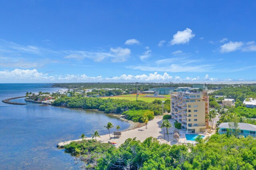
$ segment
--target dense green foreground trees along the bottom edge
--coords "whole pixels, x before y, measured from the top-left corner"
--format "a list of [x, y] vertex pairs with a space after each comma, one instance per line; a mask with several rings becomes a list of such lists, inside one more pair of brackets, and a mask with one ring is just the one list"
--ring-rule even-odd
[[254, 170], [256, 140], [213, 134], [196, 145], [160, 144], [128, 138], [119, 148], [96, 140], [71, 142], [66, 152], [80, 156], [86, 168], [96, 170]]

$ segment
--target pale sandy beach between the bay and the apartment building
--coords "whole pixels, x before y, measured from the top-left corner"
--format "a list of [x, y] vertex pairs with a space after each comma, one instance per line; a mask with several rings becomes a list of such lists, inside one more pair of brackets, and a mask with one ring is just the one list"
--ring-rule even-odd
[[[140, 141], [144, 141], [146, 138], [148, 137], [154, 137], [157, 138], [160, 143], [167, 143], [167, 144], [176, 144], [177, 142], [173, 142], [173, 136], [172, 134], [169, 134], [169, 142], [167, 140], [167, 134], [165, 134], [165, 140], [164, 140], [164, 130], [161, 127], [161, 123], [162, 123], [162, 115], [161, 116], [156, 116], [154, 117], [154, 119], [152, 121], [148, 122], [148, 128], [146, 129], [146, 126], [142, 126], [142, 127], [138, 127], [138, 128], [134, 128], [134, 125], [132, 125], [129, 129], [130, 130], [125, 130], [122, 131], [122, 136], [120, 138], [114, 138], [114, 131], [115, 128], [111, 128], [110, 129], [110, 136], [112, 137], [111, 139], [109, 138], [109, 134], [104, 134], [104, 135], [100, 135], [100, 138], [97, 138], [97, 140], [99, 140], [100, 142], [104, 142], [107, 143], [108, 141], [113, 141], [116, 142], [118, 144], [118, 146], [120, 146], [120, 144], [124, 143], [126, 139], [128, 138], [135, 138], [136, 140], [140, 140]], [[170, 121], [170, 123], [172, 124], [172, 127], [169, 128], [169, 133], [173, 132], [173, 130], [175, 129], [174, 124], [172, 121]], [[165, 129], [165, 133], [166, 133], [166, 129]], [[91, 137], [86, 138], [86, 140], [88, 139], [92, 139]], [[73, 140], [73, 141], [79, 141], [82, 139], [78, 139], [78, 140]], [[71, 141], [67, 141], [67, 142], [60, 142], [60, 146], [62, 144], [68, 144]], [[118, 147], [116, 146], [116, 147]]]

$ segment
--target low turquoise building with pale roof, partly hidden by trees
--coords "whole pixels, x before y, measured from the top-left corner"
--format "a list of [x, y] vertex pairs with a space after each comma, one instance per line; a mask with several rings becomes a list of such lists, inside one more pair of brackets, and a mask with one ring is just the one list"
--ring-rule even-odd
[[[242, 135], [244, 137], [247, 137], [247, 136], [256, 137], [256, 125], [252, 125], [249, 123], [238, 123], [238, 126], [239, 126], [238, 135]], [[227, 129], [229, 129], [230, 127], [228, 123], [221, 123], [218, 128], [219, 128], [218, 132], [220, 134], [226, 134]]]

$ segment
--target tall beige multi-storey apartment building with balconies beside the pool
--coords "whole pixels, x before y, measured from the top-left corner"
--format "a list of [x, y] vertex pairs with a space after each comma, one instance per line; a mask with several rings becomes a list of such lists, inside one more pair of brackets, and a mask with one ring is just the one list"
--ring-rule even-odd
[[172, 119], [188, 133], [205, 132], [209, 98], [207, 92], [174, 92], [171, 94]]

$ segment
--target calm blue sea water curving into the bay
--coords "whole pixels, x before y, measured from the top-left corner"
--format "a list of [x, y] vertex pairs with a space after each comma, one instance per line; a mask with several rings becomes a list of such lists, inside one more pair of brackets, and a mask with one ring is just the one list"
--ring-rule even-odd
[[[24, 96], [28, 92], [55, 92], [50, 84], [0, 84], [0, 169], [81, 169], [83, 163], [63, 149], [58, 142], [77, 139], [82, 133], [90, 136], [95, 130], [107, 134], [108, 122], [125, 130], [130, 125], [116, 117], [86, 111], [12, 101], [27, 105], [10, 105], [3, 99]], [[114, 128], [111, 130], [114, 131]]]

